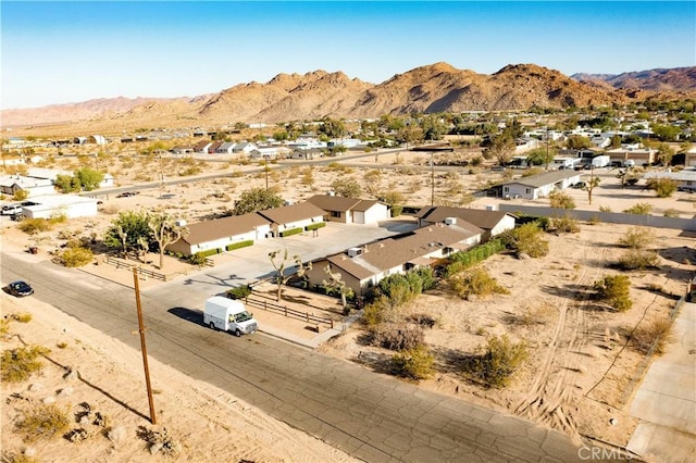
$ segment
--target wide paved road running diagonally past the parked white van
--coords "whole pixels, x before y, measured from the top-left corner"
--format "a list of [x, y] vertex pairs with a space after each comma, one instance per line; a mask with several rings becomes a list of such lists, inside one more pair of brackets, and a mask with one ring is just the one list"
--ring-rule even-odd
[[[2, 254], [2, 278], [30, 280], [35, 298], [139, 349], [130, 289], [23, 254]], [[560, 433], [260, 334], [212, 331], [176, 291], [152, 292], [141, 297], [151, 356], [364, 461], [582, 461]]]

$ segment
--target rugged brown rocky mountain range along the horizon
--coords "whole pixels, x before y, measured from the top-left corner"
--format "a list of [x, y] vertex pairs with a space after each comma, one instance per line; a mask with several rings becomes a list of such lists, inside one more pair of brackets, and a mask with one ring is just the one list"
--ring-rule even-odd
[[112, 98], [1, 112], [4, 127], [79, 122], [96, 132], [138, 127], [219, 126], [385, 114], [585, 108], [650, 98], [696, 97], [696, 66], [610, 74], [564, 74], [511, 64], [487, 75], [435, 63], [381, 84], [343, 72], [278, 74], [265, 84], [239, 84], [195, 98]]

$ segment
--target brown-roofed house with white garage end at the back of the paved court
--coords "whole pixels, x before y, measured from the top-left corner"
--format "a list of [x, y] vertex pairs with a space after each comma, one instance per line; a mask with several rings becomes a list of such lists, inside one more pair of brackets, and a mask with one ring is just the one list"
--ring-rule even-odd
[[326, 221], [344, 224], [376, 224], [389, 218], [389, 207], [376, 200], [315, 195], [307, 200], [325, 212]]

